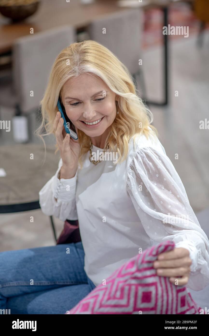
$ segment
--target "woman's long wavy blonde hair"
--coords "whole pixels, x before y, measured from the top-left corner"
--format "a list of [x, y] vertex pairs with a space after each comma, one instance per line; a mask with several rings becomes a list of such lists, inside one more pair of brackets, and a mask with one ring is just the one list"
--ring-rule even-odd
[[[69, 65], [68, 65], [69, 64]], [[110, 127], [105, 145], [109, 142], [111, 151], [116, 150], [120, 163], [128, 154], [128, 142], [133, 137], [145, 134], [146, 138], [156, 139], [157, 129], [151, 125], [153, 114], [140, 98], [134, 80], [127, 67], [106, 47], [92, 40], [85, 40], [70, 44], [63, 49], [54, 61], [48, 84], [40, 101], [42, 122], [34, 134], [41, 137], [55, 134], [53, 122], [58, 111], [57, 100], [65, 82], [83, 73], [100, 77], [106, 85], [116, 93], [116, 117]], [[46, 133], [41, 134], [45, 128]], [[82, 167], [82, 157], [90, 149], [90, 137], [78, 129], [78, 139], [81, 145], [79, 164]], [[55, 154], [59, 150], [55, 145]]]

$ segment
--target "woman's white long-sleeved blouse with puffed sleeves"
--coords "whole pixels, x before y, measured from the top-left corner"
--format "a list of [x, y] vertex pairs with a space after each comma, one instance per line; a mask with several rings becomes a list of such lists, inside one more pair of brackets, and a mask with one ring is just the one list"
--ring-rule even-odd
[[[159, 242], [190, 251], [187, 287], [209, 284], [209, 241], [190, 206], [184, 185], [159, 139], [137, 136], [121, 164], [94, 165], [89, 152], [70, 179], [55, 175], [39, 192], [41, 210], [65, 221], [79, 220], [84, 269], [95, 286], [118, 267]], [[93, 145], [92, 152], [102, 149]], [[57, 199], [57, 202], [55, 201]], [[181, 217], [180, 217], [181, 216]], [[179, 217], [179, 218], [178, 218]]]

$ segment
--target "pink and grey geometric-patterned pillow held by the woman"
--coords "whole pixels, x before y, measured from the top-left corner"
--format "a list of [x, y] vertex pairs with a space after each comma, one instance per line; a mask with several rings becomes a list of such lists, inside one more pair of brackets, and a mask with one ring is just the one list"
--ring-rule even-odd
[[153, 268], [158, 254], [174, 247], [166, 241], [136, 255], [65, 314], [199, 314], [188, 289], [157, 276]]

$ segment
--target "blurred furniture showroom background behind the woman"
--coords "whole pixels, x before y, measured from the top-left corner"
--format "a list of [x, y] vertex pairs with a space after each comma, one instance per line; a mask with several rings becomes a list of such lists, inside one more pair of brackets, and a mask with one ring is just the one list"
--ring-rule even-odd
[[34, 131], [56, 56], [84, 39], [128, 67], [209, 236], [209, 1], [0, 0], [0, 251], [55, 245], [63, 228], [38, 202], [58, 168], [55, 138], [42, 166]]

